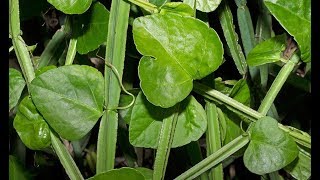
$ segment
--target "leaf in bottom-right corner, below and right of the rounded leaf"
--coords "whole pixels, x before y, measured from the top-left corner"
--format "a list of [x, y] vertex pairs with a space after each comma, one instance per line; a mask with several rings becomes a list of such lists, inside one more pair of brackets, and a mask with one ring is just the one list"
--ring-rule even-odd
[[284, 170], [296, 179], [310, 179], [311, 156], [300, 149], [298, 158], [291, 162]]

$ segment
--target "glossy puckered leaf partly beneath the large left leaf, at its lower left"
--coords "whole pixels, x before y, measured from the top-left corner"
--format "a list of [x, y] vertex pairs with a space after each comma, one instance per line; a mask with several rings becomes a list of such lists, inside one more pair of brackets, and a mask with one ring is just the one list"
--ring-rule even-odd
[[40, 150], [51, 144], [49, 126], [29, 96], [19, 104], [13, 127], [22, 142], [30, 149]]

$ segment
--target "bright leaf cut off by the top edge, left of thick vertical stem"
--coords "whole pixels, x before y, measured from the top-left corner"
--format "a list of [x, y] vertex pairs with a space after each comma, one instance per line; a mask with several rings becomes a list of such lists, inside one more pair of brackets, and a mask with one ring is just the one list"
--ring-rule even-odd
[[65, 14], [82, 14], [86, 12], [92, 0], [47, 0], [56, 9]]

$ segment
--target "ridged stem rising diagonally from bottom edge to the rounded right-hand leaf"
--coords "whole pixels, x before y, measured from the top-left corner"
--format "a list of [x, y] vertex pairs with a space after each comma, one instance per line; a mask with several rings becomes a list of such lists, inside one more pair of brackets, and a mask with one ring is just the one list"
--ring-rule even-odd
[[182, 173], [175, 180], [186, 180], [186, 179], [194, 179], [200, 174], [206, 172], [210, 168], [216, 166], [221, 163], [223, 160], [231, 156], [233, 153], [237, 152], [239, 149], [244, 147], [249, 143], [249, 136], [239, 136], [230, 143], [226, 144], [218, 151], [208, 156], [197, 165], [193, 166], [186, 172]]

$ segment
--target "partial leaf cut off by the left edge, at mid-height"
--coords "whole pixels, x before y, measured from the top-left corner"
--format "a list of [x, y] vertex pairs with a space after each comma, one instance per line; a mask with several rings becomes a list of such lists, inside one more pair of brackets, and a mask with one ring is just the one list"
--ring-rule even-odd
[[20, 71], [9, 68], [9, 111], [18, 104], [26, 81]]

